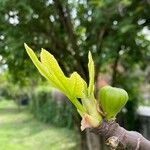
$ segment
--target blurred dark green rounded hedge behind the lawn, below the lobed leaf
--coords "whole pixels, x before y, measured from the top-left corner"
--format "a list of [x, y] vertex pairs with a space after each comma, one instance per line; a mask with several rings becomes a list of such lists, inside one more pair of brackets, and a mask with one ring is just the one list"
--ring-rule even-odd
[[49, 86], [38, 86], [34, 89], [29, 108], [34, 116], [43, 122], [57, 127], [74, 127], [74, 108], [65, 99], [54, 99]]

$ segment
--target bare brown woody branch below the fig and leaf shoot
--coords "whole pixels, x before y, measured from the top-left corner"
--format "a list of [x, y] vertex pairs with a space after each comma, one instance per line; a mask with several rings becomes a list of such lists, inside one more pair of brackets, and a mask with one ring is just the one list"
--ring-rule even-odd
[[106, 145], [111, 149], [149, 150], [150, 141], [140, 133], [127, 131], [115, 121], [103, 121], [97, 128], [91, 129], [95, 134], [102, 135], [106, 139]]

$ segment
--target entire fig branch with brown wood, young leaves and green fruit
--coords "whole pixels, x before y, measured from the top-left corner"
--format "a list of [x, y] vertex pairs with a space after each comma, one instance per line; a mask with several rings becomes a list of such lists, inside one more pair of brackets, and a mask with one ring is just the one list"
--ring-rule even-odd
[[[82, 117], [82, 131], [90, 128], [96, 134], [103, 135], [111, 149], [118, 147], [135, 150], [150, 149], [150, 141], [137, 132], [125, 130], [115, 122], [117, 114], [128, 100], [128, 93], [124, 89], [105, 85], [99, 89], [98, 99], [95, 99], [95, 69], [91, 52], [88, 55], [89, 83], [87, 84], [77, 72], [67, 77], [55, 57], [45, 49], [41, 51], [40, 60], [26, 44], [25, 49], [41, 75], [51, 86], [65, 94], [76, 107]], [[78, 99], [81, 99], [81, 102]]]

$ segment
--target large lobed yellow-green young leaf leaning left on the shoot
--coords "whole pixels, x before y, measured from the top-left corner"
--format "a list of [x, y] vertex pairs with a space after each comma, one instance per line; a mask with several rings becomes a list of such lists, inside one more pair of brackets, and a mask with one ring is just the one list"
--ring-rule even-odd
[[85, 108], [77, 100], [77, 98], [86, 97], [87, 93], [86, 82], [81, 78], [81, 76], [77, 72], [74, 72], [69, 78], [66, 77], [59, 67], [57, 60], [48, 51], [42, 49], [40, 62], [33, 50], [26, 44], [24, 45], [34, 65], [37, 67], [39, 72], [50, 82], [50, 84], [62, 91], [77, 107], [77, 109], [79, 109], [81, 112], [86, 112]]

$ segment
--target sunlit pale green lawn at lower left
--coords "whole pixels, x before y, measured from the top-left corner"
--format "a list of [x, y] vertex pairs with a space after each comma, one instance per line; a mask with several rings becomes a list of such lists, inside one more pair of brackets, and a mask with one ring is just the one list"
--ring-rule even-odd
[[0, 101], [0, 150], [77, 150], [75, 131], [41, 123], [13, 101]]

